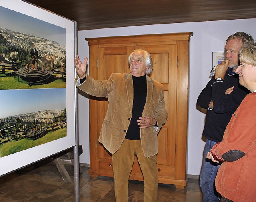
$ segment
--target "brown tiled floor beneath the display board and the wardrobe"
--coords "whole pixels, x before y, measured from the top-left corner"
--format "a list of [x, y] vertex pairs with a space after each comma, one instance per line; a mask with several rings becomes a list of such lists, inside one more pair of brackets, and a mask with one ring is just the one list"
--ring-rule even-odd
[[[73, 166], [65, 164], [72, 178], [64, 183], [54, 162], [44, 160], [0, 178], [1, 202], [74, 202]], [[143, 202], [142, 182], [129, 183], [129, 202]], [[80, 202], [115, 202], [113, 178], [88, 176], [88, 167], [80, 173]], [[202, 202], [198, 180], [188, 179], [185, 190], [174, 185], [158, 185], [158, 202]]]

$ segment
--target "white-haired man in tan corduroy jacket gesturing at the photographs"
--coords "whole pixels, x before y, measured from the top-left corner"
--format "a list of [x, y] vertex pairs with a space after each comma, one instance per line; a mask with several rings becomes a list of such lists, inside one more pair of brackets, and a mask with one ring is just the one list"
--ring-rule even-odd
[[144, 178], [144, 201], [157, 201], [157, 133], [167, 118], [163, 85], [146, 74], [152, 58], [141, 49], [128, 58], [130, 74], [111, 74], [97, 81], [86, 74], [87, 58], [77, 56], [76, 86], [97, 97], [108, 98], [108, 110], [99, 142], [112, 154], [116, 202], [128, 202], [128, 180], [135, 154]]

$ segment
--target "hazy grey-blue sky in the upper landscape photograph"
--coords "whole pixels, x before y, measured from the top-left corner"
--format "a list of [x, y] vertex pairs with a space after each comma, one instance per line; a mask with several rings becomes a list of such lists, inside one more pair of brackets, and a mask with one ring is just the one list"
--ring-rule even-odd
[[[7, 2], [6, 2], [7, 3]], [[66, 29], [0, 6], [0, 27], [55, 41], [66, 46]]]

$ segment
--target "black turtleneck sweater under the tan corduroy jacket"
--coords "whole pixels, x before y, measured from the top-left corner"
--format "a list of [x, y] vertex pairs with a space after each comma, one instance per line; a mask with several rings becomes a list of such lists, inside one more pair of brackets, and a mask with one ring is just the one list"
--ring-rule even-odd
[[132, 105], [132, 118], [127, 130], [126, 139], [140, 140], [140, 126], [137, 120], [142, 116], [142, 112], [147, 98], [147, 79], [144, 76], [132, 76], [133, 82], [133, 105]]

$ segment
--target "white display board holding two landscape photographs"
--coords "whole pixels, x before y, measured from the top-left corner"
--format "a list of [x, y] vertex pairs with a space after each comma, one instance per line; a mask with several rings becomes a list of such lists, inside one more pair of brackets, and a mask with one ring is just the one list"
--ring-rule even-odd
[[76, 144], [76, 22], [0, 1], [0, 176]]

